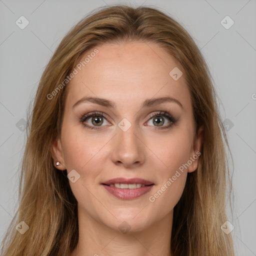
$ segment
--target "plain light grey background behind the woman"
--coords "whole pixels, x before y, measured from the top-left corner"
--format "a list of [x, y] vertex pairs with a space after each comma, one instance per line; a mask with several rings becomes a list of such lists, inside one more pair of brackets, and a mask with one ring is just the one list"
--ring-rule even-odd
[[[201, 49], [220, 98], [234, 159], [233, 224], [237, 255], [256, 255], [256, 1], [142, 0], [183, 25]], [[0, 235], [17, 207], [26, 111], [56, 46], [78, 20], [111, 0], [0, 0]], [[29, 24], [20, 29], [23, 15]], [[228, 15], [234, 24], [226, 29]], [[225, 21], [230, 25], [230, 20]], [[24, 23], [23, 23], [24, 24]], [[255, 93], [255, 94], [253, 94]]]

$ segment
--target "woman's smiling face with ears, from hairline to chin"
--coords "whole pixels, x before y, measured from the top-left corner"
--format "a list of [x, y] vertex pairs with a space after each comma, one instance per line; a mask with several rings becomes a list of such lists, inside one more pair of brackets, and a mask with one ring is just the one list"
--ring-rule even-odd
[[153, 43], [104, 44], [86, 57], [53, 145], [78, 214], [130, 231], [171, 219], [200, 154], [184, 70]]

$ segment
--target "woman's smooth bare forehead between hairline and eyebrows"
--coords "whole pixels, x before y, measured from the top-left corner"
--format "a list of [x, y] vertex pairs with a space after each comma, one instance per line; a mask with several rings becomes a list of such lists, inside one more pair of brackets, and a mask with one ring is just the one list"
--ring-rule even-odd
[[[166, 95], [183, 101], [184, 105], [190, 103], [184, 70], [158, 44], [105, 43], [86, 51], [79, 63], [80, 69], [76, 67], [77, 74], [68, 84], [67, 104], [82, 96], [104, 97], [123, 105], [131, 100], [140, 103], [144, 98]], [[176, 67], [183, 74], [174, 80], [169, 73]]]

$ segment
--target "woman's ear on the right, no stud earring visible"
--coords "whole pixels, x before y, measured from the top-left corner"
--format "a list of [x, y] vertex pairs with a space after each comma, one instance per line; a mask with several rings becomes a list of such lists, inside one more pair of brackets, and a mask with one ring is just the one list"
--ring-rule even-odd
[[199, 159], [199, 155], [201, 154], [202, 141], [203, 141], [203, 126], [200, 126], [197, 131], [197, 135], [195, 135], [193, 144], [191, 146], [189, 160], [192, 163], [189, 164], [189, 166], [187, 167], [187, 172], [195, 171], [198, 166], [198, 159]]

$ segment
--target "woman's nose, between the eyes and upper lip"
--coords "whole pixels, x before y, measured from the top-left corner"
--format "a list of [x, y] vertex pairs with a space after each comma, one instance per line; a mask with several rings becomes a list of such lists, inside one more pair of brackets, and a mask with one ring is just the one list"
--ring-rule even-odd
[[114, 164], [132, 168], [144, 162], [145, 145], [135, 125], [132, 124], [126, 131], [117, 126], [113, 139], [111, 160]]

